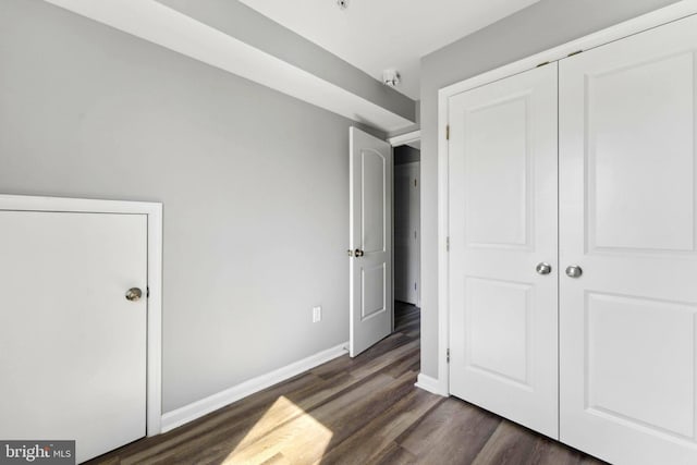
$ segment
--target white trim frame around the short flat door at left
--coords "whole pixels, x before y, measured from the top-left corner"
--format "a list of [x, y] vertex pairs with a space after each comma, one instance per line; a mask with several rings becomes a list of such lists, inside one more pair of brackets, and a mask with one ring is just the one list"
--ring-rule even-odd
[[162, 421], [162, 204], [0, 195], [0, 210], [147, 216], [146, 431], [148, 437], [159, 435]]

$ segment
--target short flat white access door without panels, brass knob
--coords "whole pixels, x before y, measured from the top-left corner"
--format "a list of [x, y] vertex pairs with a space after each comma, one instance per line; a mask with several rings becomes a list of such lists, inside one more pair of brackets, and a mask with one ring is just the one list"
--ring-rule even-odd
[[147, 216], [0, 210], [0, 438], [145, 436], [146, 289]]

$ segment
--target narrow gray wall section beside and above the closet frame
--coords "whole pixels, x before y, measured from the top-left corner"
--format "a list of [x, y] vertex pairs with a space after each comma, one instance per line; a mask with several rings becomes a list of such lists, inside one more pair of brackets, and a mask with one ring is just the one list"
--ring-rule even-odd
[[438, 89], [674, 0], [541, 0], [421, 59], [421, 372], [438, 377]]

